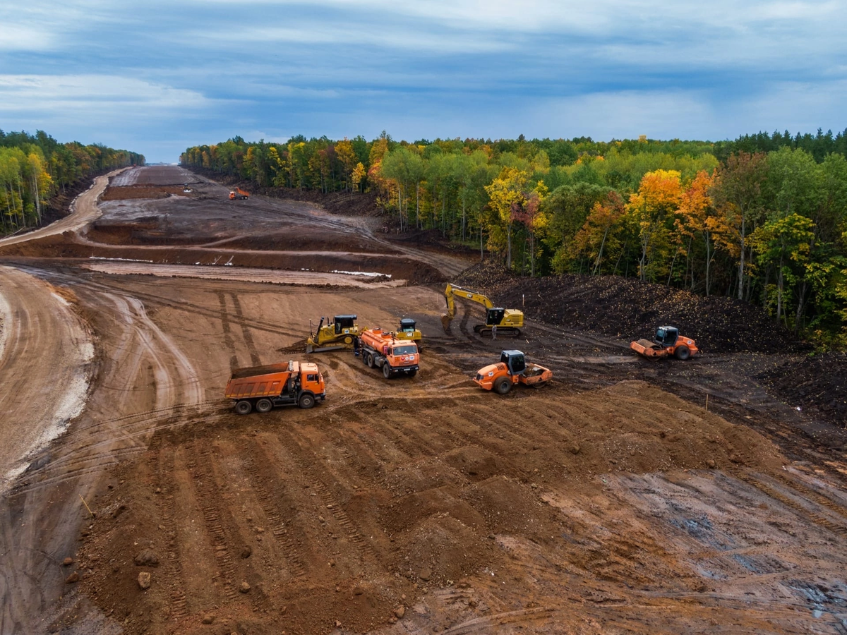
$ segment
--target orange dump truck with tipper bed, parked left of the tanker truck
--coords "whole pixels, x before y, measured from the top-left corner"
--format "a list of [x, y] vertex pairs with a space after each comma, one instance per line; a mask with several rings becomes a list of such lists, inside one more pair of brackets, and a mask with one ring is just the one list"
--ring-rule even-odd
[[318, 365], [288, 362], [252, 368], [235, 368], [224, 396], [233, 400], [235, 411], [246, 415], [253, 408], [269, 412], [274, 406], [311, 408], [326, 399], [324, 375]]

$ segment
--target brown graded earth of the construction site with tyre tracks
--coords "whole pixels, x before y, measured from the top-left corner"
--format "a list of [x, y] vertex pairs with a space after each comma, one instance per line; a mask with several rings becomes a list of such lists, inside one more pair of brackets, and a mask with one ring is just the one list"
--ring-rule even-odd
[[[847, 633], [847, 434], [802, 347], [650, 362], [601, 291], [176, 166], [110, 179], [0, 241], [0, 632]], [[522, 336], [461, 301], [446, 334], [448, 280], [520, 298]], [[417, 319], [418, 375], [319, 353], [324, 403], [235, 414], [231, 368], [346, 313]], [[473, 384], [511, 348], [552, 383]]]

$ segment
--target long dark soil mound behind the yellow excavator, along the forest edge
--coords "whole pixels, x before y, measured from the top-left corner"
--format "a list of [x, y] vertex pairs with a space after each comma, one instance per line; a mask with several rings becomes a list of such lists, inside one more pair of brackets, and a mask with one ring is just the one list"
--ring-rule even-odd
[[457, 284], [483, 291], [500, 306], [523, 308], [540, 322], [624, 339], [649, 337], [657, 326], [670, 324], [705, 352], [775, 353], [803, 346], [756, 306], [630, 278], [519, 278], [494, 262], [482, 262], [462, 273]]

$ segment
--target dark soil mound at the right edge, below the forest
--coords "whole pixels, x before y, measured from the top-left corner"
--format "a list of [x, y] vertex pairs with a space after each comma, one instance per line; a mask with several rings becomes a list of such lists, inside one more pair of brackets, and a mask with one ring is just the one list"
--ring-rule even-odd
[[800, 405], [847, 428], [847, 355], [824, 353], [759, 377], [785, 403]]

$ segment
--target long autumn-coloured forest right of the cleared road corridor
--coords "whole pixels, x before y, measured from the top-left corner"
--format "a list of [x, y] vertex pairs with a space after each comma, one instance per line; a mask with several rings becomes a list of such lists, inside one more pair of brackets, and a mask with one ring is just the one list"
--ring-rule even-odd
[[236, 137], [181, 160], [259, 185], [372, 191], [525, 275], [616, 274], [764, 306], [847, 343], [847, 130], [734, 141]]

